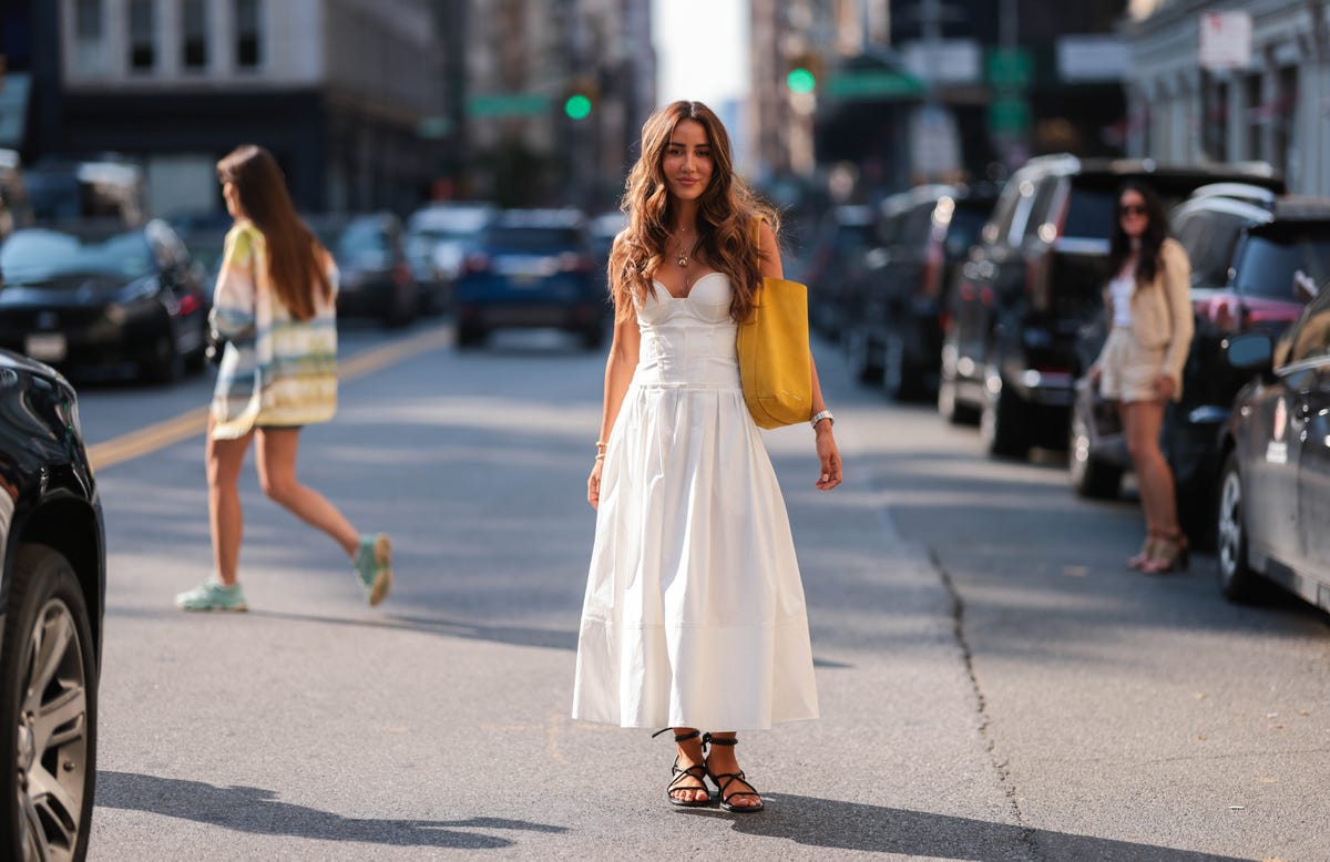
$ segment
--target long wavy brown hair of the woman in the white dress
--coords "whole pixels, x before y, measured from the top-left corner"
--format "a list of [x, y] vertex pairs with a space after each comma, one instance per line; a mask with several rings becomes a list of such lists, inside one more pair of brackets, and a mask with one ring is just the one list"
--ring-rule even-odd
[[[654, 290], [652, 277], [665, 259], [674, 219], [674, 201], [665, 184], [665, 150], [684, 120], [700, 122], [712, 145], [712, 180], [698, 200], [698, 249], [708, 263], [729, 275], [734, 295], [730, 317], [738, 322], [747, 319], [753, 294], [762, 283], [753, 217], [761, 216], [773, 231], [779, 231], [775, 210], [734, 174], [730, 136], [712, 109], [696, 101], [665, 105], [642, 125], [642, 153], [628, 174], [620, 205], [628, 214], [628, 227], [609, 255], [609, 283], [620, 321], [630, 319], [636, 305]], [[771, 253], [773, 249], [765, 249], [762, 255]]]

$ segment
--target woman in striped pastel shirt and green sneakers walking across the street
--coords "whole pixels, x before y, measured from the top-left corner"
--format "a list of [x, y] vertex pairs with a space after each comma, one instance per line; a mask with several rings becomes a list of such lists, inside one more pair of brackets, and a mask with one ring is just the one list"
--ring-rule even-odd
[[210, 322], [225, 341], [207, 420], [207, 513], [215, 573], [176, 596], [184, 611], [246, 611], [237, 580], [243, 521], [239, 472], [258, 440], [263, 492], [351, 557], [371, 605], [392, 584], [388, 537], [360, 535], [295, 478], [301, 428], [336, 410], [336, 265], [295, 214], [277, 160], [259, 146], [217, 162], [226, 234]]

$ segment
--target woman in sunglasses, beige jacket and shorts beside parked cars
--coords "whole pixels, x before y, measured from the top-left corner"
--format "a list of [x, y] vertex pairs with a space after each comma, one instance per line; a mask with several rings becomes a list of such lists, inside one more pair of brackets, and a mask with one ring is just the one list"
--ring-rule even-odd
[[1117, 402], [1132, 456], [1145, 543], [1127, 561], [1160, 575], [1186, 568], [1186, 536], [1177, 521], [1173, 472], [1160, 450], [1164, 407], [1182, 396], [1182, 366], [1192, 346], [1192, 263], [1168, 235], [1158, 196], [1140, 181], [1117, 196], [1104, 302], [1111, 330], [1091, 367], [1100, 394]]

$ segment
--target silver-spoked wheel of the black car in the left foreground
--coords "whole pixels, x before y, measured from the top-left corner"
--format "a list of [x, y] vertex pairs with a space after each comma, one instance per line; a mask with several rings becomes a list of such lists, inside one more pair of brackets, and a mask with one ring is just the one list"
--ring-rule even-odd
[[[97, 660], [73, 567], [21, 545], [13, 560], [0, 665], [5, 858], [81, 859], [88, 849], [97, 750]], [[15, 778], [11, 778], [15, 781]]]

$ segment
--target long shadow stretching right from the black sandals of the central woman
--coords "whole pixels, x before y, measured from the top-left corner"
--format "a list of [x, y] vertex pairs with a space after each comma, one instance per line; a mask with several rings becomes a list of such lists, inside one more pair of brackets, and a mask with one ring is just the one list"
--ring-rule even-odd
[[1149, 862], [1225, 862], [1240, 857], [1174, 850], [1157, 845], [1115, 841], [1012, 826], [968, 817], [908, 811], [790, 795], [765, 794], [761, 814], [733, 815], [720, 809], [680, 809], [692, 815], [726, 817], [734, 831], [837, 850], [866, 850], [910, 858], [984, 861], [1028, 857], [1035, 859], [1141, 859]]

